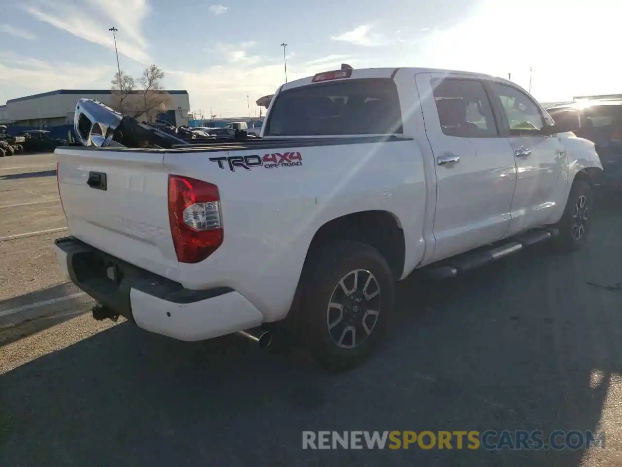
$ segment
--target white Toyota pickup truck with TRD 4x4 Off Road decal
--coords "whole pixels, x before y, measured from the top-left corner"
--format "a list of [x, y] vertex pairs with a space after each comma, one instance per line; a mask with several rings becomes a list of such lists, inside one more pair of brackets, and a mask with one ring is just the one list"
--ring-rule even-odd
[[99, 147], [55, 151], [70, 234], [55, 245], [95, 318], [260, 344], [284, 321], [332, 367], [369, 354], [417, 268], [580, 247], [602, 170], [576, 113], [554, 122], [475, 73], [319, 73], [277, 90], [261, 138], [194, 146], [129, 138], [82, 104], [75, 129]]

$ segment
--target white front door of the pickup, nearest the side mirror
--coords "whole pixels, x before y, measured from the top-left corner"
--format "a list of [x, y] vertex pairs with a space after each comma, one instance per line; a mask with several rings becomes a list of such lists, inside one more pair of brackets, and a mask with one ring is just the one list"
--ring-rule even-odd
[[550, 217], [564, 207], [568, 162], [557, 134], [542, 128], [549, 116], [526, 92], [509, 83], [491, 83], [494, 105], [504, 120], [516, 157], [516, 191], [508, 235], [549, 224]]

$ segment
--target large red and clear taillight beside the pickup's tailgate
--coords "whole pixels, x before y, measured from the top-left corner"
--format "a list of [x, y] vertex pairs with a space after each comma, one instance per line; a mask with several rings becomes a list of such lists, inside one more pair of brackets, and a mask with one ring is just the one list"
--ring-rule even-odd
[[169, 175], [169, 222], [180, 263], [202, 262], [223, 243], [218, 187]]

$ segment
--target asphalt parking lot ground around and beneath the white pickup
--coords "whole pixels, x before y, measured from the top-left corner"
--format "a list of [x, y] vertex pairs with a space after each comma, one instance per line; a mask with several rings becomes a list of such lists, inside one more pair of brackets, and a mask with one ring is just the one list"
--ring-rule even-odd
[[[53, 257], [67, 235], [52, 154], [0, 159], [0, 465], [622, 463], [622, 212], [587, 248], [545, 245], [458, 280], [414, 274], [396, 326], [326, 374], [287, 341], [183, 343], [93, 321]], [[30, 321], [6, 326], [16, 313]], [[277, 336], [278, 337], [278, 336]], [[588, 451], [303, 450], [303, 430], [592, 430]]]

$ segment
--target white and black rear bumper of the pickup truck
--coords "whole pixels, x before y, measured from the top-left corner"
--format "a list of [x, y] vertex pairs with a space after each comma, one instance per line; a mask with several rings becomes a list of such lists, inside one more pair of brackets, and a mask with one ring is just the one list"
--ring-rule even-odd
[[263, 321], [258, 309], [230, 288], [188, 290], [73, 237], [58, 238], [55, 249], [61, 270], [75, 285], [152, 333], [201, 341]]

